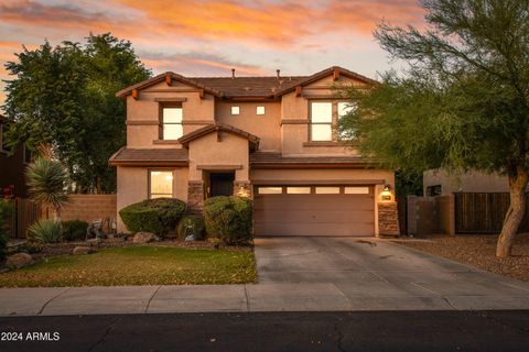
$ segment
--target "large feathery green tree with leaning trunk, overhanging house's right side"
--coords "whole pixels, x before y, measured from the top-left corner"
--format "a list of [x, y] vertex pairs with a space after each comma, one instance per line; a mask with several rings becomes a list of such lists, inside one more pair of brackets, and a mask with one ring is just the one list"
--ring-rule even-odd
[[382, 23], [375, 33], [407, 75], [349, 90], [339, 129], [364, 154], [422, 172], [478, 169], [509, 179], [496, 255], [510, 255], [529, 180], [529, 1], [423, 0], [428, 29]]

